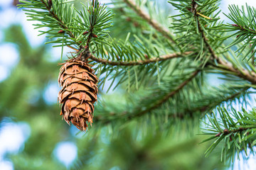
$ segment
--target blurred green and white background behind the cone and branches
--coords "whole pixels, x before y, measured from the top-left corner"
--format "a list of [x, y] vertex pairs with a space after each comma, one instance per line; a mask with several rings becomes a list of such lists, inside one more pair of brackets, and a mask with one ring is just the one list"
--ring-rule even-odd
[[[38, 37], [38, 30], [33, 29], [36, 22], [26, 21], [17, 3], [0, 0], [1, 170], [255, 169], [253, 155], [247, 160], [241, 158], [240, 162], [223, 164], [216, 149], [205, 158], [208, 146], [198, 144], [204, 137], [196, 135], [200, 132], [198, 126], [188, 128], [189, 122], [181, 122], [168, 133], [154, 130], [150, 123], [136, 121], [124, 125], [95, 123], [89, 132], [69, 126], [61, 120], [57, 104], [61, 47], [45, 45], [47, 39]], [[256, 1], [223, 0], [220, 8], [227, 13], [228, 4], [245, 3], [256, 6]], [[228, 21], [223, 14], [220, 16]], [[112, 36], [119, 35], [112, 33]], [[70, 49], [64, 48], [64, 55], [67, 52]], [[211, 81], [218, 84], [216, 77]], [[122, 101], [125, 94], [119, 86], [107, 94], [102, 89], [99, 97], [125, 104]]]

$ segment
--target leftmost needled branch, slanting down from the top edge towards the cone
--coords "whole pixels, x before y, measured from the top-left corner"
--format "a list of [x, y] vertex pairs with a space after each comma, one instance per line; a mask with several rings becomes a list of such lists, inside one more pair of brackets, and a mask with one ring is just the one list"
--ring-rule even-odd
[[[47, 43], [59, 43], [63, 45], [78, 45], [75, 40], [75, 32], [78, 25], [71, 23], [70, 19], [78, 18], [75, 11], [70, 10], [71, 1], [43, 1], [43, 0], [20, 0], [19, 8], [26, 11], [30, 21], [40, 21], [41, 23], [33, 24], [36, 28], [47, 27], [49, 30], [39, 30], [40, 35], [48, 34], [48, 38], [57, 38]], [[63, 13], [65, 11], [65, 13]]]

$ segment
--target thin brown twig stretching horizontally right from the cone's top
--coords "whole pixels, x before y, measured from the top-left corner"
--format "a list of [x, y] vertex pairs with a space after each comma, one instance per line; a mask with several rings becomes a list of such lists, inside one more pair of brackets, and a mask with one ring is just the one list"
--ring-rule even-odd
[[110, 64], [110, 65], [123, 65], [123, 66], [134, 66], [134, 65], [141, 65], [141, 64], [149, 64], [152, 62], [160, 62], [160, 61], [164, 61], [164, 60], [169, 60], [172, 58], [177, 58], [177, 57], [183, 57], [183, 55], [190, 55], [191, 53], [193, 53], [192, 51], [190, 52], [177, 52], [177, 53], [173, 53], [173, 54], [169, 54], [169, 55], [161, 55], [160, 57], [153, 57], [151, 59], [148, 60], [138, 60], [138, 61], [131, 61], [131, 62], [115, 62], [115, 61], [111, 61], [111, 60], [105, 60], [105, 59], [101, 59], [101, 58], [97, 58], [94, 55], [92, 55], [90, 57], [91, 60], [94, 60], [95, 62], [100, 62], [102, 64]]

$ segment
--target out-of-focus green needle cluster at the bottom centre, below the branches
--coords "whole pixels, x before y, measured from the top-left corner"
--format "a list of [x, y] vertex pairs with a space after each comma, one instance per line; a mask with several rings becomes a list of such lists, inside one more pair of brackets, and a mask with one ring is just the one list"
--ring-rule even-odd
[[[201, 137], [184, 135], [198, 132], [193, 121], [177, 123], [168, 133], [159, 130], [160, 126], [146, 122], [138, 126], [132, 121], [123, 124], [122, 129], [110, 131], [105, 127], [100, 133], [104, 142], [100, 142], [102, 135], [92, 130], [94, 134], [80, 141], [84, 149], [73, 169], [224, 169], [216, 162], [218, 158], [208, 161], [200, 154], [206, 149], [206, 145], [198, 145]], [[89, 154], [93, 152], [100, 152], [102, 159]]]

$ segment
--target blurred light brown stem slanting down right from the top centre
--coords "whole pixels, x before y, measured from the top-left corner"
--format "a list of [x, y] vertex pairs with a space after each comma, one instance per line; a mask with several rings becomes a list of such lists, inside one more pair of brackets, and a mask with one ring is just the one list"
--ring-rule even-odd
[[137, 13], [138, 16], [142, 17], [145, 21], [147, 21], [149, 23], [149, 25], [151, 25], [153, 28], [155, 28], [157, 31], [159, 31], [159, 33], [164, 35], [164, 37], [171, 40], [171, 42], [176, 43], [174, 38], [171, 36], [171, 33], [169, 32], [169, 30], [166, 28], [163, 28], [163, 26], [161, 26], [157, 21], [150, 18], [150, 16], [147, 13], [145, 13], [144, 11], [142, 11], [142, 9], [139, 8], [139, 6], [137, 6], [137, 4], [135, 4], [134, 1], [132, 1], [132, 0], [123, 0], [123, 1], [130, 8], [132, 8]]

